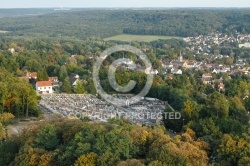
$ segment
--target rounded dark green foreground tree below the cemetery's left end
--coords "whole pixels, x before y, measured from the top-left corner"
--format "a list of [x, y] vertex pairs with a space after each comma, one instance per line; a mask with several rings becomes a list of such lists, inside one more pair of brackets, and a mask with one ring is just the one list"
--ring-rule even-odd
[[37, 133], [35, 146], [46, 150], [54, 150], [59, 143], [55, 126], [46, 125]]

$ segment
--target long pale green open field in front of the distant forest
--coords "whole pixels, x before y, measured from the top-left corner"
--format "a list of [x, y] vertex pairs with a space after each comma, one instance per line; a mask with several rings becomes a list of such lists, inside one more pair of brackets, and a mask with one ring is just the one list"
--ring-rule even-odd
[[132, 42], [132, 41], [139, 41], [139, 42], [151, 42], [155, 40], [166, 40], [166, 39], [182, 39], [181, 37], [176, 37], [176, 36], [150, 36], [150, 35], [117, 35], [109, 38], [105, 38], [105, 41], [127, 41], [127, 42]]

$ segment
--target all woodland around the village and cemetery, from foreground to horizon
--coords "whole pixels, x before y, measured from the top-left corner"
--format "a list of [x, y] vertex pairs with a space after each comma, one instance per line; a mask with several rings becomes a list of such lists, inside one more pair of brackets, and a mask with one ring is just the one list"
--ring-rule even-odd
[[[34, 90], [34, 80], [27, 82], [18, 78], [25, 76], [27, 71], [37, 72], [38, 80], [57, 76], [62, 82], [57, 93], [96, 95], [91, 78], [96, 57], [111, 46], [128, 44], [106, 42], [100, 37], [123, 32], [178, 36], [217, 30], [249, 33], [249, 21], [246, 21], [249, 14], [244, 9], [90, 10], [0, 18], [0, 29], [11, 31], [0, 38], [0, 165], [202, 166], [214, 163], [248, 166], [250, 77], [214, 74], [214, 79], [223, 78], [225, 81], [226, 90], [221, 92], [202, 83], [201, 76], [208, 71], [190, 69], [167, 79], [161, 63], [176, 59], [180, 50], [185, 59], [206, 61], [205, 55], [192, 56], [185, 48], [186, 43], [176, 39], [129, 44], [143, 50], [153, 68], [159, 71], [148, 96], [168, 101], [181, 112], [182, 119], [166, 119], [164, 126], [137, 126], [123, 119], [91, 123], [86, 119], [55, 118], [27, 126], [22, 134], [13, 137], [8, 137], [5, 129], [13, 118], [18, 120], [41, 115], [37, 108], [39, 97]], [[158, 28], [161, 31], [157, 31]], [[94, 35], [96, 37], [88, 37]], [[84, 40], [80, 40], [82, 38]], [[11, 52], [10, 48], [15, 51]], [[245, 48], [215, 47], [212, 50], [230, 55], [228, 59], [215, 60], [214, 63], [231, 65], [238, 58], [250, 57], [249, 49]], [[127, 52], [109, 56], [100, 70], [101, 84], [109, 93], [115, 91], [107, 79], [108, 66], [123, 55], [142, 64], [138, 57]], [[249, 65], [249, 60], [246, 64]], [[72, 73], [78, 74], [82, 80], [75, 87], [69, 82]], [[138, 93], [144, 87], [145, 76], [140, 71], [120, 68], [116, 80], [120, 85], [127, 84], [130, 79], [136, 80], [137, 85], [132, 92]], [[171, 137], [168, 129], [175, 131], [177, 136]]]

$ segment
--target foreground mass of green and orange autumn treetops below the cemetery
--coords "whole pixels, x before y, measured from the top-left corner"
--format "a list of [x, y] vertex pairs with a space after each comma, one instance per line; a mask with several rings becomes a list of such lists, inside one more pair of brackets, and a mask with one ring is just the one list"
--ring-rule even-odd
[[36, 125], [0, 144], [2, 165], [200, 165], [207, 144], [187, 129], [171, 138], [160, 126], [141, 127], [122, 119], [108, 123], [60, 120]]

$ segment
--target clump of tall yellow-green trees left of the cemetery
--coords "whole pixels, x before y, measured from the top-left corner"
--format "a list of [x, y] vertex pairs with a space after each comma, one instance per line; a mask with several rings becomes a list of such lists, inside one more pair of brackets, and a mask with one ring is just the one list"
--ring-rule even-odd
[[38, 116], [38, 98], [33, 87], [2, 67], [0, 68], [0, 113], [19, 117]]

